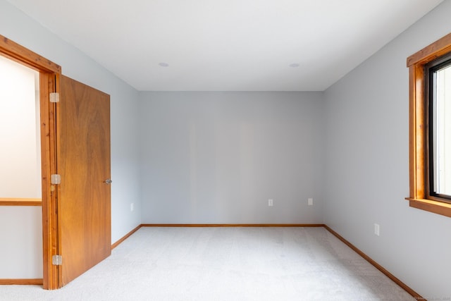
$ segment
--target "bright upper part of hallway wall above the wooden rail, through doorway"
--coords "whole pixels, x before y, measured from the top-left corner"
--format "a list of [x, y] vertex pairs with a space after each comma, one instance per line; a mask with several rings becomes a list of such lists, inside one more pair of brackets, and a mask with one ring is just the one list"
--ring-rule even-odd
[[0, 56], [0, 198], [40, 199], [37, 72]]

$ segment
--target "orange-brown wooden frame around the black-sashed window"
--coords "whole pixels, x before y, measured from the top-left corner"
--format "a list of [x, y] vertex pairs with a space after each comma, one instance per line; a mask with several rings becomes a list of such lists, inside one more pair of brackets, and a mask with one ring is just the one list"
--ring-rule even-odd
[[428, 100], [425, 66], [451, 54], [451, 33], [407, 58], [409, 68], [409, 206], [451, 217], [449, 199], [428, 191]]

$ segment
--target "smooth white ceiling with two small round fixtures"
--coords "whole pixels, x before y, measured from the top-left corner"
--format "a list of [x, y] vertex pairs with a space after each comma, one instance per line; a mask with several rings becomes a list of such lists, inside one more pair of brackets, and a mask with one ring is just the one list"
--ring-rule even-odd
[[8, 1], [137, 90], [323, 91], [443, 0]]

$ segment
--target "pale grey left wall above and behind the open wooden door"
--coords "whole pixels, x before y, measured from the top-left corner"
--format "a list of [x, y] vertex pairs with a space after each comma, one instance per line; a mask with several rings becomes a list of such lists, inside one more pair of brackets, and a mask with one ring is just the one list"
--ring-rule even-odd
[[58, 63], [64, 75], [111, 95], [111, 241], [119, 240], [141, 223], [138, 92], [6, 0], [0, 0], [0, 32]]

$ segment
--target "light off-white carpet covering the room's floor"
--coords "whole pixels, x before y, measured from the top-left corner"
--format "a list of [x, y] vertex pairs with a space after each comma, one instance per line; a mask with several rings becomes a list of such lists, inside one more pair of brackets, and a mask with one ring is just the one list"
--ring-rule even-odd
[[415, 300], [324, 228], [140, 228], [60, 290], [0, 300]]

